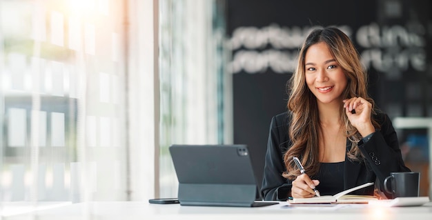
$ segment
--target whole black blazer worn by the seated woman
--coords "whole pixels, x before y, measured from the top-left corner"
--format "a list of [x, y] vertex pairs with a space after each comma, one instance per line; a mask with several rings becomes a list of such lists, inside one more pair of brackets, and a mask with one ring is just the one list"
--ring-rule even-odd
[[[402, 160], [402, 154], [397, 141], [397, 135], [391, 120], [386, 114], [379, 113], [375, 119], [381, 128], [373, 133], [371, 139], [359, 148], [364, 155], [364, 161], [353, 162], [345, 157], [344, 190], [359, 186], [366, 182], [375, 182], [378, 189], [383, 189], [384, 179], [390, 172], [410, 171]], [[278, 114], [271, 120], [268, 134], [267, 152], [264, 166], [264, 179], [262, 181], [261, 195], [264, 200], [286, 201], [291, 191], [291, 182], [282, 177], [286, 170], [284, 165], [284, 152], [291, 147], [288, 137], [289, 114]], [[351, 142], [346, 141], [346, 148], [351, 148]], [[373, 194], [373, 186], [362, 188], [353, 193]], [[382, 190], [381, 190], [382, 191]], [[384, 192], [386, 197], [390, 194]]]

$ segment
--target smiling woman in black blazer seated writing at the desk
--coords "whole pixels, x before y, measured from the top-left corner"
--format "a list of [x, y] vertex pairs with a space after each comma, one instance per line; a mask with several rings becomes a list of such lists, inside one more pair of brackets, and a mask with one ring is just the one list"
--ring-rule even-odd
[[[366, 182], [383, 188], [390, 172], [409, 171], [389, 117], [377, 111], [351, 40], [337, 28], [313, 30], [288, 82], [288, 112], [271, 121], [265, 200], [336, 194]], [[306, 170], [301, 174], [293, 157]], [[374, 194], [374, 187], [355, 194]]]

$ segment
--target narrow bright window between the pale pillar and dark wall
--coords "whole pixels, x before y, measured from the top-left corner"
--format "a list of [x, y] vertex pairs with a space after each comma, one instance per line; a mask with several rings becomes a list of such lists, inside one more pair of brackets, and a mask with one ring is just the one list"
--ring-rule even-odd
[[171, 144], [232, 142], [224, 1], [159, 1], [160, 197], [177, 197]]

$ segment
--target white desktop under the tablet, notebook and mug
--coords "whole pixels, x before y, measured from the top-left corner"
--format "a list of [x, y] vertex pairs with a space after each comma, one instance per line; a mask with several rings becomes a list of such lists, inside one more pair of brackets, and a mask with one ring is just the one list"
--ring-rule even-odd
[[179, 204], [149, 204], [145, 201], [113, 201], [75, 203], [48, 210], [3, 217], [18, 219], [379, 219], [422, 220], [432, 219], [432, 202], [419, 207], [376, 208], [369, 205], [353, 205], [321, 208], [283, 208], [286, 203], [260, 208], [199, 207]]

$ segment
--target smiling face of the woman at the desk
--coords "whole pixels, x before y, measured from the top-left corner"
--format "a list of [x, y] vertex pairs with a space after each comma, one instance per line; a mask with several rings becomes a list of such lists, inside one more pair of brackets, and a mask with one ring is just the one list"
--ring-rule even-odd
[[324, 42], [315, 43], [304, 58], [306, 84], [319, 103], [342, 103], [348, 79]]

